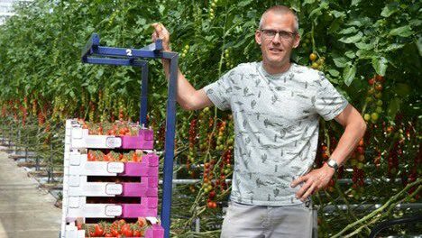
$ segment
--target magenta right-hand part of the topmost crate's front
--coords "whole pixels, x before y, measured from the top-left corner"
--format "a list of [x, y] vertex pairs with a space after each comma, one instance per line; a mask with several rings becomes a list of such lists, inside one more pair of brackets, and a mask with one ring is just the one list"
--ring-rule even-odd
[[154, 148], [154, 133], [152, 130], [140, 130], [138, 136], [120, 136], [123, 149], [144, 149]]

